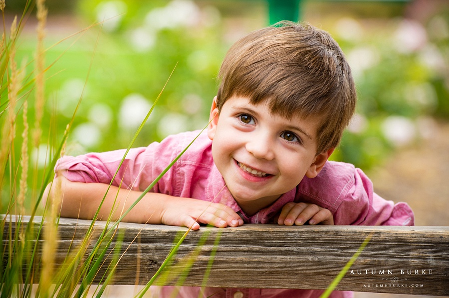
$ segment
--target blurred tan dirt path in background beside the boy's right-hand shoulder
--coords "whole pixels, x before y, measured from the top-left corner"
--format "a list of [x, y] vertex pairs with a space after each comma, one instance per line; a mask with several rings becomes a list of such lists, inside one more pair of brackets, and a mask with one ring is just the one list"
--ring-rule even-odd
[[[438, 123], [426, 140], [391, 156], [368, 176], [381, 197], [407, 202], [415, 225], [449, 226], [449, 123]], [[355, 298], [432, 298], [355, 293]], [[439, 296], [438, 296], [439, 297]]]

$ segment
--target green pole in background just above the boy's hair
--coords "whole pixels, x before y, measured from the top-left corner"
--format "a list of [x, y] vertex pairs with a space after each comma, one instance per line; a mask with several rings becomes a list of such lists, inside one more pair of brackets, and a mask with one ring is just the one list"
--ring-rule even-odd
[[270, 25], [282, 20], [298, 21], [301, 0], [268, 0]]

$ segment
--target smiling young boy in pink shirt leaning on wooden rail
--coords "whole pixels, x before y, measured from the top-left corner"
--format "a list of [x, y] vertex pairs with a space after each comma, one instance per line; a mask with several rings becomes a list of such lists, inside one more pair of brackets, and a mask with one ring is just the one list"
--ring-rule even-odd
[[[406, 203], [380, 198], [361, 170], [328, 161], [356, 104], [349, 65], [328, 33], [291, 22], [251, 32], [229, 49], [219, 77], [207, 133], [195, 140], [126, 221], [193, 229], [200, 228], [198, 222], [217, 227], [244, 222], [413, 225]], [[100, 218], [111, 208], [118, 218], [198, 134], [181, 133], [132, 149]], [[93, 217], [124, 152], [66, 156], [58, 162], [55, 180], [62, 181], [64, 192], [61, 216]], [[164, 287], [161, 296], [170, 290]], [[237, 290], [211, 288], [205, 295], [231, 297]], [[248, 297], [322, 293], [239, 290]], [[198, 297], [198, 291], [182, 287], [179, 295]]]

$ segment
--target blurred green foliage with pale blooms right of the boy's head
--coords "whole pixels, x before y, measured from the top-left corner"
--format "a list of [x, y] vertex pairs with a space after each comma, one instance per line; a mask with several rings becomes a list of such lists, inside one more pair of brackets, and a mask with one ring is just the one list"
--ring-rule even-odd
[[337, 33], [354, 71], [359, 105], [334, 159], [370, 168], [448, 119], [449, 7], [444, 8], [422, 23], [396, 17], [370, 28], [340, 20], [359, 31], [349, 39]]

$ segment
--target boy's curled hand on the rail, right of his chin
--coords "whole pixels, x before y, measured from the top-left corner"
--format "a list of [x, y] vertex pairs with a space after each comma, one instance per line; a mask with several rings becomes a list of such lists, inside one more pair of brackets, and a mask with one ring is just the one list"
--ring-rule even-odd
[[303, 225], [309, 224], [334, 224], [334, 217], [328, 209], [315, 204], [289, 202], [282, 207], [282, 211], [277, 219], [280, 225]]

